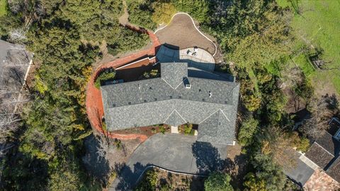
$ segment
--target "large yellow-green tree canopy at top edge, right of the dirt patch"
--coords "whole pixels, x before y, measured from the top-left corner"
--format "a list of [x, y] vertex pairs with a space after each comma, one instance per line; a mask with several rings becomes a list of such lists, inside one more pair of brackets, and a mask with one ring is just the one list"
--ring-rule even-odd
[[290, 18], [275, 1], [234, 1], [226, 9], [210, 14], [205, 25], [229, 61], [251, 68], [255, 62], [264, 65], [288, 52]]

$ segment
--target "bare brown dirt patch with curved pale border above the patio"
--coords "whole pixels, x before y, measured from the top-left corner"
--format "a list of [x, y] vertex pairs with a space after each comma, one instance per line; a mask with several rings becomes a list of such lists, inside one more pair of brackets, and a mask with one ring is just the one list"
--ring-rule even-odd
[[185, 49], [188, 47], [200, 47], [214, 54], [215, 46], [203, 35], [198, 33], [191, 18], [184, 14], [176, 15], [166, 28], [156, 33], [161, 44], [169, 44]]

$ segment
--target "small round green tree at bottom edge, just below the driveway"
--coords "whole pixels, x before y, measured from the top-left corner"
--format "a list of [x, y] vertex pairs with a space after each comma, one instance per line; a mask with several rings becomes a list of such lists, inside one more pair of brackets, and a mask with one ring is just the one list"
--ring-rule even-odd
[[207, 180], [204, 181], [205, 191], [232, 191], [232, 185], [230, 185], [230, 175], [225, 173], [212, 172], [208, 176]]

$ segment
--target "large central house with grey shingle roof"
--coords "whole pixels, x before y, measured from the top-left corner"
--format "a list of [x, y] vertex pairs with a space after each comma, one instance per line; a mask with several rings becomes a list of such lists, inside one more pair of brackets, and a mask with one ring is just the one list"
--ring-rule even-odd
[[101, 86], [107, 129], [191, 123], [198, 125], [198, 141], [234, 144], [239, 83], [186, 62], [160, 69], [158, 78]]

